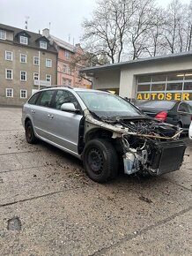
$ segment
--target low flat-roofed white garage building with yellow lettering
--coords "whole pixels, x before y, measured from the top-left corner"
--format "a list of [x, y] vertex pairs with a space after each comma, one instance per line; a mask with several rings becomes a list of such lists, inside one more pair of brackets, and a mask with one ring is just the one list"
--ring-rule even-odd
[[137, 100], [192, 101], [192, 52], [156, 56], [81, 70], [92, 88]]

